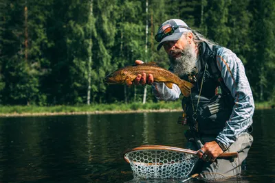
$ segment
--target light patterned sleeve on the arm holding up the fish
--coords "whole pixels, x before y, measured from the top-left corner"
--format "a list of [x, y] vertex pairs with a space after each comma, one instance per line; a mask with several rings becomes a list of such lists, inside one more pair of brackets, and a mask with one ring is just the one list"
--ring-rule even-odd
[[177, 84], [173, 84], [172, 88], [168, 88], [162, 82], [154, 82], [152, 84], [152, 92], [158, 100], [175, 101], [179, 99], [181, 90]]

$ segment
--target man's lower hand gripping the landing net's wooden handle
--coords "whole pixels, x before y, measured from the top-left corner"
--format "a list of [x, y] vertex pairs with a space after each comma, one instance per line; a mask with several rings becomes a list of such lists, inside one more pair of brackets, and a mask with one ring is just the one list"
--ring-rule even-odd
[[[204, 154], [202, 153], [204, 152]], [[202, 158], [204, 161], [212, 161], [216, 160], [217, 157], [219, 157], [221, 154], [223, 154], [223, 150], [215, 141], [211, 141], [209, 143], [205, 143], [203, 147], [199, 150], [198, 156], [199, 158]]]

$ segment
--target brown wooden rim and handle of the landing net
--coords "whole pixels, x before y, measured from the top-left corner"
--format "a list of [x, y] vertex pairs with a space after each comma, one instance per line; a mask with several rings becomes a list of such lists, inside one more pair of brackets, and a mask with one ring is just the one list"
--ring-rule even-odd
[[[128, 149], [124, 152], [123, 157], [126, 162], [129, 162], [129, 160], [126, 158], [126, 154], [131, 151], [140, 151], [140, 150], [168, 150], [168, 151], [177, 151], [182, 152], [186, 154], [192, 154], [197, 155], [198, 151], [193, 151], [190, 149], [183, 149], [179, 147], [171, 147], [166, 145], [141, 145], [140, 147], [135, 147], [133, 149]], [[230, 152], [230, 153], [223, 153], [218, 158], [238, 158], [237, 152]]]

